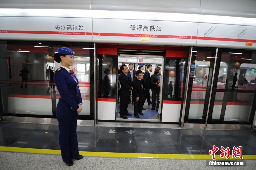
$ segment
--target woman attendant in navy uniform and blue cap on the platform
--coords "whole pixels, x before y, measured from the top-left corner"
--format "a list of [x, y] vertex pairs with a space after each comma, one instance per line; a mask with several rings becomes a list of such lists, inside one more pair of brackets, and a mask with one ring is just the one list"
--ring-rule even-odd
[[62, 160], [66, 165], [73, 165], [72, 159], [82, 159], [78, 152], [77, 143], [77, 118], [82, 110], [82, 97], [78, 86], [78, 79], [69, 69], [74, 63], [75, 52], [69, 48], [58, 48], [54, 60], [61, 62], [56, 70], [53, 80], [60, 93], [59, 103], [56, 108], [56, 117], [59, 122], [59, 143]]

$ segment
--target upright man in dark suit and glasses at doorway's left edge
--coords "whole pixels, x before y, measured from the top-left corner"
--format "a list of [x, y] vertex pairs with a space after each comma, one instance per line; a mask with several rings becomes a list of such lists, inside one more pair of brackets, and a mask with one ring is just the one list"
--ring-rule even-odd
[[130, 92], [132, 91], [133, 87], [132, 87], [132, 80], [130, 78], [130, 76], [128, 75], [128, 67], [123, 64], [120, 67], [120, 70], [122, 71], [122, 73], [119, 76], [119, 81], [121, 84], [121, 88], [120, 88], [120, 117], [123, 119], [127, 119], [127, 116], [132, 116], [132, 114], [128, 113], [128, 102], [129, 102], [129, 98], [130, 98]]

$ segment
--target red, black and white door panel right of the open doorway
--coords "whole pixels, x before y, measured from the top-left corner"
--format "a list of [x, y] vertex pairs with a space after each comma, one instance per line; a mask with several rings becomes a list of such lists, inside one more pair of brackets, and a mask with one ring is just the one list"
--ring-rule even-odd
[[162, 122], [180, 121], [187, 51], [181, 54], [179, 57], [165, 59]]

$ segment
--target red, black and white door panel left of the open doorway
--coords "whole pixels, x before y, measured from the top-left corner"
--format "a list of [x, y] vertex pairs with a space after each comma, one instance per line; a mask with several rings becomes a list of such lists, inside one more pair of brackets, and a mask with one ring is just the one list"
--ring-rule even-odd
[[97, 120], [115, 120], [118, 56], [117, 49], [98, 48]]

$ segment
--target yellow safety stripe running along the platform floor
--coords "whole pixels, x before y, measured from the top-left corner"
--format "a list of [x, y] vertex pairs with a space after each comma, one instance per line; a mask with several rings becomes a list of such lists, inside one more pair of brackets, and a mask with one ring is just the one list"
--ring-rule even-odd
[[[33, 149], [33, 148], [19, 148], [0, 146], [0, 151], [8, 152], [26, 152], [26, 153], [41, 153], [41, 154], [58, 154], [60, 150], [52, 149]], [[119, 153], [119, 152], [86, 152], [79, 151], [83, 156], [97, 156], [97, 157], [124, 157], [124, 158], [158, 158], [158, 159], [212, 159], [211, 155], [203, 154], [162, 154], [162, 153]], [[221, 159], [220, 155], [215, 155], [216, 159]], [[233, 159], [232, 155], [229, 159]], [[239, 159], [239, 158], [236, 158]], [[255, 159], [256, 155], [243, 155], [243, 159]]]

